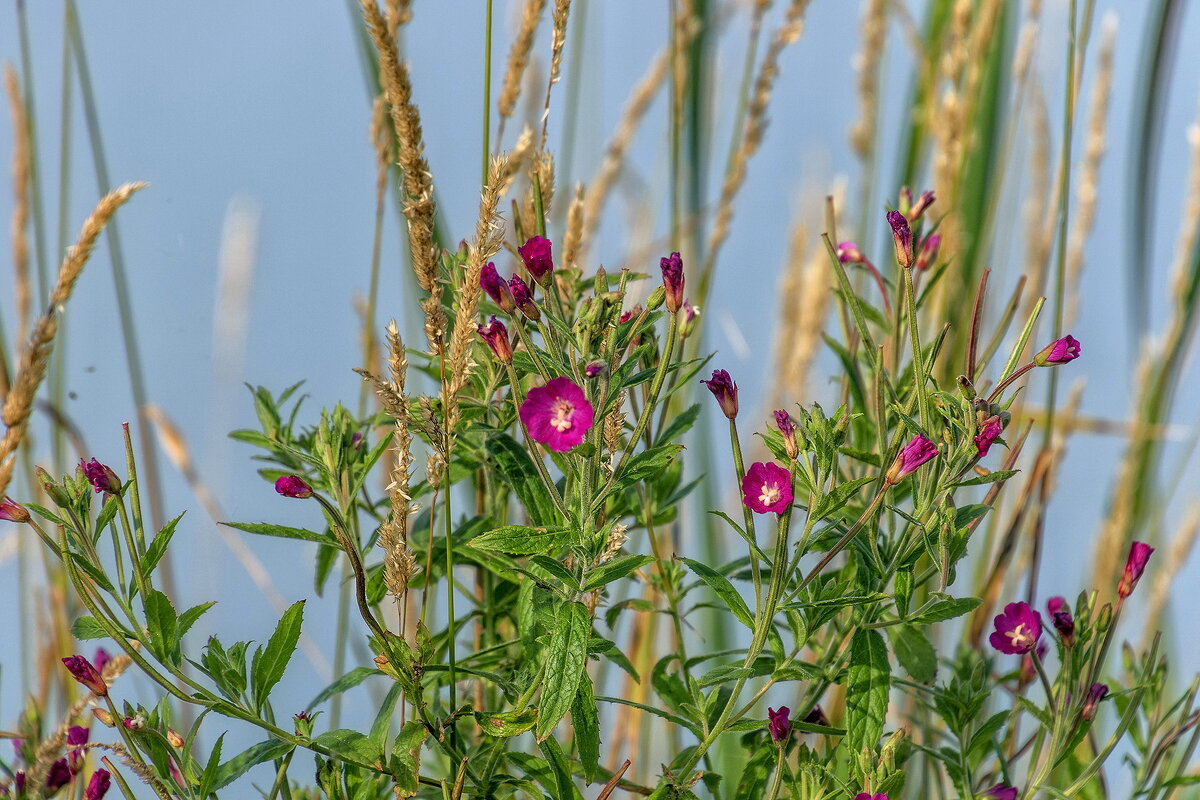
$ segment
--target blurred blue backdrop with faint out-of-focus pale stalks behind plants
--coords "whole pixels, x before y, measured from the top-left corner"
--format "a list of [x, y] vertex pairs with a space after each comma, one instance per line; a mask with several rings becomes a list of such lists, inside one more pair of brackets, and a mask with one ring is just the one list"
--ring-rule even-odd
[[[199, 479], [220, 504], [215, 511], [222, 519], [318, 524], [314, 507], [276, 495], [256, 474], [251, 449], [227, 438], [233, 428], [256, 426], [244, 383], [277, 392], [305, 381], [304, 391], [310, 396], [300, 414], [305, 422], [314, 422], [322, 407], [344, 402], [353, 408], [359, 398], [361, 381], [352, 368], [362, 363], [360, 312], [372, 255], [376, 157], [370, 140], [374, 90], [367, 78], [355, 5], [82, 4], [77, 23], [95, 101], [91, 124], [97, 127], [92, 130], [77, 59], [65, 61], [64, 5], [44, 0], [28, 4], [24, 32], [12, 4], [0, 11], [0, 60], [17, 67], [34, 92], [44, 218], [61, 216], [66, 221], [65, 230], [46, 224], [34, 245], [41, 248], [52, 275], [61, 242], [74, 240], [102, 193], [92, 131], [102, 138], [110, 185], [131, 180], [150, 184], [119, 212], [115, 228], [104, 235], [108, 241], [102, 240], [71, 300], [65, 337], [55, 356], [64, 359], [66, 396], [61, 410], [82, 432], [84, 453], [124, 474], [120, 426], [134, 421], [137, 409], [109, 251], [116, 233], [145, 398], [186, 440]], [[499, 66], [493, 68], [493, 102], [520, 5], [497, 4], [493, 59]], [[724, 164], [739, 119], [732, 107], [746, 56], [750, 5], [720, 4], [715, 12], [720, 24], [709, 48], [709, 136], [720, 155], [718, 166]], [[923, 24], [925, 4], [887, 5], [890, 17], [883, 49], [876, 52], [881, 102], [878, 160], [871, 174], [864, 173], [848, 136], [860, 118], [863, 8], [841, 0], [811, 2], [802, 38], [781, 54], [766, 139], [749, 164], [730, 239], [702, 308], [706, 349], [716, 351], [714, 367], [728, 369], [738, 380], [744, 414], [766, 420], [773, 401], [834, 403], [827, 377], [838, 367], [826, 351], [817, 356], [804, 385], [778, 385], [778, 350], [787, 347], [779, 336], [780, 299], [786, 296], [781, 283], [796, 259], [794, 229], [806, 225], [809, 248], [820, 243], [826, 194], [846, 198], [842, 207], [850, 211], [840, 223], [840, 237], [853, 237], [876, 263], [888, 263], [890, 243], [883, 211], [895, 205], [900, 188], [895, 175], [900, 174], [901, 131], [907, 122], [913, 65], [920, 55], [913, 31]], [[1039, 5], [1031, 74], [1044, 94], [1049, 130], [1057, 144], [1068, 2]], [[1118, 480], [1116, 465], [1124, 451], [1123, 421], [1134, 416], [1138, 365], [1145, 359], [1147, 339], [1163, 335], [1177, 290], [1170, 272], [1181, 225], [1192, 219], [1188, 213], [1181, 218], [1181, 210], [1192, 158], [1189, 130], [1200, 98], [1200, 7], [1165, 4], [1177, 10], [1171, 18], [1176, 46], [1164, 50], [1169, 62], [1159, 84], [1158, 169], [1148, 175], [1147, 197], [1153, 205], [1147, 213], [1147, 249], [1138, 258], [1126, 223], [1145, 203], [1138, 197], [1130, 201], [1130, 180], [1140, 169], [1138, 157], [1144, 149], [1139, 131], [1146, 115], [1146, 42], [1156, 34], [1154, 13], [1164, 4], [1098, 0], [1094, 10], [1093, 4], [1081, 5], [1094, 13], [1094, 23], [1080, 61], [1076, 162], [1086, 155], [1086, 120], [1099, 72], [1097, 54], [1109, 30], [1114, 61], [1104, 118], [1105, 152], [1096, 184], [1097, 222], [1084, 249], [1075, 294], [1078, 315], [1069, 329], [1082, 342], [1082, 357], [1062, 368], [1060, 389], [1062, 398], [1076, 384], [1082, 386], [1079, 413], [1086, 425], [1067, 443], [1056, 498], [1046, 516], [1042, 561], [1044, 594], [1069, 597], [1090, 585], [1093, 545], [1109, 513], [1110, 492]], [[402, 32], [451, 241], [470, 235], [478, 210], [482, 7], [482, 0], [419, 1]], [[770, 10], [764, 30], [774, 30], [781, 14], [780, 8]], [[595, 174], [632, 88], [670, 36], [670, 7], [644, 0], [575, 0], [571, 26], [550, 118], [560, 198], [568, 197], [566, 187], [575, 181], [590, 181]], [[1014, 18], [1008, 34], [1014, 48], [1018, 34]], [[538, 121], [548, 53], [544, 40], [548, 40], [545, 24], [535, 48], [538, 59], [529, 67], [529, 79], [539, 89], [526, 92], [533, 106], [527, 108], [524, 100], [518, 106], [504, 145], [515, 140], [526, 120]], [[594, 239], [592, 265], [604, 264], [610, 272], [622, 266], [649, 271], [670, 248], [664, 233], [668, 229], [668, 110], [664, 89], [654, 96], [631, 142]], [[574, 124], [564, 122], [566, 118]], [[984, 259], [995, 269], [995, 306], [1008, 296], [1022, 272], [1027, 243], [1024, 215], [1031, 194], [1040, 191], [1024, 169], [1036, 157], [1036, 137], [1025, 132], [1027, 119], [1015, 125], [1008, 172], [991, 176], [1004, 181], [995, 222], [996, 245]], [[62, 131], [67, 136], [61, 136]], [[6, 118], [0, 125], [0, 154], [10, 154], [12, 148], [12, 126]], [[719, 197], [721, 180], [720, 168], [704, 176], [708, 198]], [[5, 181], [0, 191], [0, 218], [5, 219], [13, 209], [8, 185]], [[874, 188], [860, 203], [864, 185]], [[922, 188], [913, 186], [914, 191]], [[377, 332], [392, 317], [402, 329], [413, 330], [416, 311], [408, 295], [403, 229], [391, 192], [388, 204]], [[859, 206], [870, 215], [859, 215]], [[706, 204], [704, 210], [710, 212], [712, 205]], [[559, 221], [557, 230], [564, 211], [563, 201], [552, 209], [552, 218]], [[508, 267], [505, 260], [503, 269]], [[0, 315], [12, 337], [14, 301], [7, 275], [0, 277], [0, 285], [5, 287], [0, 290]], [[1145, 299], [1142, 312], [1135, 311], [1139, 296]], [[35, 309], [40, 302], [35, 300]], [[947, 315], [952, 325], [968, 324], [967, 308], [949, 308]], [[1189, 348], [1184, 353], [1193, 354]], [[1156, 468], [1163, 486], [1174, 489], [1162, 518], [1154, 522], [1154, 530], [1166, 537], [1186, 527], [1189, 505], [1200, 494], [1194, 456], [1198, 405], [1192, 399], [1200, 395], [1200, 371], [1190, 357], [1180, 362], [1180, 399], [1165, 420], [1166, 446]], [[1034, 377], [1038, 398], [1044, 381], [1044, 375]], [[706, 415], [715, 426], [716, 414]], [[49, 463], [44, 415], [35, 425], [34, 461]], [[77, 459], [74, 452], [67, 455]], [[277, 610], [247, 577], [244, 560], [235, 558], [193, 489], [161, 451], [160, 461], [168, 518], [187, 511], [174, 545], [176, 606], [221, 599], [194, 628], [193, 648], [212, 632], [220, 632], [226, 642], [264, 640]], [[24, 482], [10, 488], [18, 499], [28, 492]], [[733, 507], [734, 501], [732, 494], [718, 497], [726, 507]], [[0, 640], [10, 643], [0, 674], [0, 727], [16, 717], [35, 678], [29, 670], [36, 654], [32, 643], [22, 637], [36, 627], [46, 602], [44, 589], [28, 577], [40, 573], [41, 553], [36, 541], [19, 542], [18, 533], [0, 523], [0, 602], [10, 609], [0, 616]], [[332, 596], [314, 596], [312, 551], [236, 531], [227, 535], [240, 540], [265, 566], [278, 597], [287, 603], [308, 599], [305, 630], [318, 648], [326, 644], [336, 602]], [[1123, 559], [1123, 552], [1118, 558]], [[1175, 567], [1181, 570], [1175, 583], [1178, 589], [1170, 597], [1164, 624], [1177, 674], [1186, 678], [1200, 666], [1200, 643], [1187, 633], [1188, 618], [1200, 600], [1194, 589], [1200, 565], [1195, 559], [1177, 559]], [[1139, 634], [1136, 630], [1129, 633], [1134, 638]], [[296, 710], [302, 708], [328, 682], [328, 662], [301, 652], [276, 694], [276, 709], [288, 709], [288, 698], [294, 698]], [[149, 697], [152, 693], [148, 692]], [[358, 704], [366, 702], [362, 697], [348, 700], [347, 714], [353, 715]], [[230, 724], [227, 752], [235, 752], [230, 750], [235, 744], [258, 738]]]

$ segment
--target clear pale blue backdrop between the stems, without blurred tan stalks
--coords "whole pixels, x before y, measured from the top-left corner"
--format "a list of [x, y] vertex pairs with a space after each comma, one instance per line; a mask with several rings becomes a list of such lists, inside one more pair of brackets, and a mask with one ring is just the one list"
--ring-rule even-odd
[[[630, 88], [655, 58], [667, 31], [662, 2], [576, 2], [586, 8], [586, 49], [578, 78], [582, 124], [574, 140], [572, 163], [559, 164], [559, 174], [566, 170], [572, 180], [593, 174]], [[353, 407], [358, 398], [360, 380], [350, 372], [360, 363], [354, 299], [365, 294], [367, 284], [374, 156], [367, 134], [370, 98], [354, 20], [338, 2], [289, 4], [286, 13], [281, 13], [278, 4], [263, 2], [128, 0], [82, 5], [110, 175], [116, 182], [146, 180], [151, 185], [119, 216], [150, 398], [186, 435], [227, 518], [316, 525], [314, 507], [278, 498], [254, 474], [251, 450], [229, 441], [224, 432], [254, 425], [244, 380], [274, 390], [306, 380], [306, 391], [312, 396], [305, 417], [310, 421], [319, 407], [337, 401]], [[1044, 6], [1038, 73], [1057, 119], [1066, 1], [1050, 0]], [[1064, 378], [1066, 385], [1086, 379], [1085, 413], [1122, 419], [1129, 409], [1135, 354], [1128, 348], [1121, 260], [1124, 228], [1120, 218], [1126, 212], [1122, 194], [1145, 7], [1140, 0], [1102, 0], [1097, 6], [1092, 55], [1100, 17], [1115, 13], [1120, 20], [1116, 73], [1109, 150], [1100, 174], [1099, 223], [1088, 242], [1081, 314], [1073, 330], [1084, 342], [1084, 357], [1066, 368]], [[470, 235], [478, 207], [481, 8], [481, 2], [472, 0], [418, 2], [415, 18], [404, 32], [428, 158], [455, 240]], [[704, 309], [708, 342], [718, 351], [714, 365], [734, 373], [744, 398], [763, 396], [769, 385], [778, 281], [797, 210], [812, 205], [836, 178], [847, 176], [852, 187], [858, 178], [846, 136], [858, 113], [852, 68], [859, 47], [857, 16], [856, 4], [814, 2], [802, 41], [785, 53], [767, 140], [750, 167], [713, 300]], [[56, 203], [59, 172], [61, 17], [60, 4], [29, 4], [48, 210]], [[778, 10], [768, 30], [774, 29], [776, 17]], [[515, 22], [514, 10], [505, 7], [497, 16], [494, 47], [499, 65]], [[1148, 270], [1156, 332], [1164, 324], [1166, 271], [1174, 257], [1187, 180], [1186, 132], [1195, 120], [1200, 94], [1200, 48], [1194, 47], [1200, 41], [1200, 10], [1188, 6], [1182, 22], [1186, 28], [1178, 37], [1182, 47], [1176, 55], [1158, 176], [1156, 257]], [[719, 98], [731, 98], [736, 90], [744, 32], [745, 14], [739, 11], [731, 16], [720, 40], [714, 70]], [[545, 26], [542, 34], [545, 40]], [[893, 26], [884, 61], [888, 77], [880, 140], [889, 154], [894, 151], [889, 132], [898, 130], [911, 62], [905, 48]], [[542, 41], [540, 53], [546, 52]], [[19, 61], [11, 7], [0, 12], [0, 60]], [[544, 68], [542, 64], [542, 73]], [[574, 68], [570, 55], [568, 68]], [[502, 71], [503, 66], [497, 68]], [[1086, 113], [1093, 73], [1091, 58], [1081, 113]], [[556, 90], [559, 113], [571, 79], [566, 74]], [[499, 76], [497, 89], [498, 84]], [[718, 107], [730, 108], [731, 101]], [[97, 198], [78, 103], [73, 115], [71, 239]], [[718, 113], [713, 121], [718, 152], [724, 154], [728, 142], [731, 116]], [[560, 148], [557, 121], [557, 115], [552, 116], [551, 143]], [[510, 125], [509, 142], [516, 128]], [[660, 222], [666, 209], [665, 131], [666, 106], [660, 96], [631, 152], [632, 164], [644, 181], [638, 191], [649, 194], [650, 207], [656, 204], [662, 209]], [[1076, 152], [1079, 148], [1076, 142]], [[6, 116], [0, 125], [0, 154], [11, 149]], [[887, 161], [882, 174], [893, 173]], [[881, 187], [877, 207], [894, 201], [893, 190], [887, 184]], [[854, 197], [853, 191], [850, 197]], [[214, 344], [215, 320], [222, 319], [217, 264], [230, 207], [251, 209], [258, 218], [240, 363], [236, 357], [218, 354]], [[0, 191], [0, 218], [7, 219], [11, 209], [6, 180]], [[618, 199], [610, 204], [610, 212], [616, 222], [602, 228], [593, 253], [607, 266], [622, 265], [629, 252], [626, 207]], [[400, 234], [391, 211], [388, 219], [382, 320], [403, 317], [414, 308], [402, 291]], [[664, 229], [662, 224], [658, 228]], [[49, 241], [54, 236], [50, 225]], [[862, 237], [871, 236], [880, 240], [881, 230], [876, 228]], [[1018, 252], [996, 255], [1015, 258]], [[1015, 272], [1010, 269], [1006, 281], [1015, 279]], [[0, 309], [11, 331], [8, 284], [0, 285], [5, 287], [0, 290]], [[101, 461], [121, 463], [120, 423], [131, 420], [134, 410], [103, 245], [79, 283], [67, 320], [67, 375], [73, 392], [67, 411], [85, 431], [91, 453]], [[829, 366], [822, 362], [821, 368], [828, 372]], [[820, 392], [820, 383], [815, 385]], [[1200, 377], [1189, 362], [1180, 390], [1184, 399], [1174, 420], [1181, 439], [1195, 437], [1196, 407], [1187, 398], [1195, 397], [1198, 390]], [[744, 399], [743, 405], [756, 403]], [[1091, 541], [1104, 513], [1121, 450], [1122, 443], [1112, 437], [1084, 434], [1072, 440], [1046, 524], [1043, 585], [1056, 587], [1046, 594], [1074, 596], [1087, 585]], [[1172, 446], [1171, 453], [1168, 463], [1188, 455], [1180, 445]], [[169, 467], [166, 469], [169, 473]], [[1200, 476], [1194, 458], [1186, 462], [1184, 470], [1180, 494], [1195, 498]], [[166, 506], [172, 516], [188, 510], [176, 536], [175, 563], [182, 594], [176, 604], [221, 597], [217, 608], [198, 625], [198, 632], [220, 632], [223, 640], [265, 639], [277, 615], [229, 555], [187, 486], [174, 475], [167, 482]], [[1172, 506], [1169, 518], [1178, 519], [1182, 507], [1182, 503]], [[11, 527], [0, 525], [0, 537], [12, 534]], [[269, 565], [288, 601], [310, 599], [306, 630], [318, 642], [330, 638], [334, 602], [331, 597], [317, 601], [313, 595], [311, 552], [276, 541], [252, 540], [248, 545]], [[0, 600], [10, 608], [16, 602], [16, 571], [11, 558], [0, 564]], [[1192, 587], [1198, 577], [1193, 560], [1177, 582], [1175, 614], [1194, 608], [1196, 594]], [[2, 640], [14, 642], [16, 630], [12, 615], [0, 620]], [[1186, 636], [1171, 636], [1171, 640], [1178, 662], [1176, 674], [1190, 674], [1200, 664], [1200, 645]], [[196, 637], [194, 642], [198, 645], [202, 639]], [[16, 655], [19, 650], [17, 643], [5, 651], [0, 726], [13, 720], [22, 697]], [[287, 709], [287, 698], [300, 708], [319, 686], [311, 666], [296, 661], [280, 690], [283, 699], [277, 709]], [[240, 734], [234, 735], [240, 739]], [[233, 752], [229, 746], [235, 740], [227, 744], [227, 752]]]

